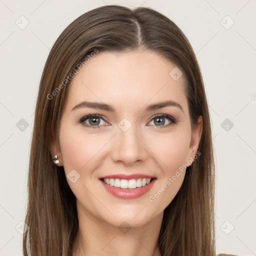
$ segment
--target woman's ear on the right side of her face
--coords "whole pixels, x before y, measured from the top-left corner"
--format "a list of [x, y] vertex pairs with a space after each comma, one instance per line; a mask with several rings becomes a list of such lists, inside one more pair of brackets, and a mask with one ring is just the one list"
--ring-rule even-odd
[[[200, 115], [197, 118], [197, 123], [195, 124], [195, 126], [192, 129], [192, 133], [191, 133], [191, 140], [190, 140], [190, 144], [189, 144], [189, 149], [188, 149], [188, 160], [192, 160], [195, 156], [195, 153], [197, 151], [200, 139], [201, 139], [201, 134], [202, 134], [202, 116]], [[189, 164], [191, 165], [191, 164]]]

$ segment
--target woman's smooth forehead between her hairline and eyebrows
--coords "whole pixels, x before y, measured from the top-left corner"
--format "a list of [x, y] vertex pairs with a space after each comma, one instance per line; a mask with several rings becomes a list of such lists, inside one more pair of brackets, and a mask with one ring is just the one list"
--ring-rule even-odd
[[98, 101], [115, 108], [139, 108], [173, 100], [187, 108], [184, 79], [174, 80], [175, 65], [149, 50], [98, 52], [68, 84], [66, 108], [81, 101]]

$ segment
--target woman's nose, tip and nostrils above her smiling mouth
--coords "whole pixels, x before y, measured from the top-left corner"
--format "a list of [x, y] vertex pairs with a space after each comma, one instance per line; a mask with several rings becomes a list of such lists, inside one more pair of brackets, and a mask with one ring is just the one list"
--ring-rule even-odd
[[117, 134], [112, 141], [112, 160], [126, 165], [143, 162], [146, 159], [147, 147], [139, 134], [133, 125], [126, 131], [117, 127]]

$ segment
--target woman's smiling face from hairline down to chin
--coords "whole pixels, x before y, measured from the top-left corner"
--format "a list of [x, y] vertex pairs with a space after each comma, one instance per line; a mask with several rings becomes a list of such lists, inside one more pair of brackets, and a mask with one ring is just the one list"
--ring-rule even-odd
[[201, 134], [201, 122], [191, 131], [179, 76], [138, 49], [99, 51], [72, 78], [57, 151], [79, 214], [139, 226], [171, 202]]

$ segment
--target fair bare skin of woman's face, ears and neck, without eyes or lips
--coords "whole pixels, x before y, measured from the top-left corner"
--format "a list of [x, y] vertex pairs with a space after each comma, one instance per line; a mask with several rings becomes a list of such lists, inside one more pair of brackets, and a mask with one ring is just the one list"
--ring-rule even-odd
[[[155, 199], [161, 186], [198, 148], [202, 119], [191, 130], [183, 76], [174, 80], [175, 65], [153, 51], [99, 52], [68, 84], [67, 100], [60, 120], [59, 141], [52, 141], [67, 175], [72, 169], [80, 177], [67, 182], [76, 196], [79, 220], [78, 251], [73, 255], [160, 255], [157, 245], [164, 208], [179, 190], [185, 171]], [[79, 108], [81, 101], [111, 105], [116, 112]], [[148, 104], [172, 100], [176, 106], [145, 112]], [[88, 114], [100, 114], [100, 128], [79, 123]], [[157, 125], [155, 115], [177, 119]], [[118, 123], [126, 118], [131, 127], [123, 131]], [[89, 119], [83, 122], [92, 125]], [[164, 126], [164, 128], [161, 128]], [[152, 188], [136, 199], [120, 199], [108, 193], [99, 176], [143, 173], [156, 177]], [[126, 221], [127, 232], [118, 226]]]

